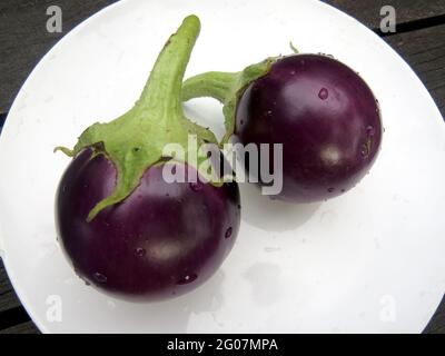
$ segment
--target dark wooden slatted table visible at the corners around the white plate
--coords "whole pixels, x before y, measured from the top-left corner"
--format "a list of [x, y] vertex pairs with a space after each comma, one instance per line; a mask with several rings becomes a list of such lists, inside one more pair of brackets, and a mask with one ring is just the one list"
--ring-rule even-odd
[[[76, 24], [112, 2], [116, 0], [1, 0], [0, 123], [21, 83], [38, 60]], [[328, 0], [327, 2], [378, 32], [400, 53], [426, 85], [444, 116], [444, 0]], [[46, 10], [51, 4], [58, 4], [63, 11], [62, 33], [51, 34], [46, 30]], [[396, 9], [396, 33], [380, 33], [378, 30], [382, 19], [380, 8], [385, 4]], [[17, 298], [0, 261], [1, 333], [39, 332]], [[445, 299], [425, 333], [445, 334]]]

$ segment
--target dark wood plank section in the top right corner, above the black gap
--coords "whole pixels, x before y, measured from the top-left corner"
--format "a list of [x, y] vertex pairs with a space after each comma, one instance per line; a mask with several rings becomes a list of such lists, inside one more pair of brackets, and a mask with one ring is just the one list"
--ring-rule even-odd
[[369, 28], [378, 28], [383, 6], [393, 6], [397, 23], [412, 22], [445, 14], [444, 0], [325, 0], [353, 16]]

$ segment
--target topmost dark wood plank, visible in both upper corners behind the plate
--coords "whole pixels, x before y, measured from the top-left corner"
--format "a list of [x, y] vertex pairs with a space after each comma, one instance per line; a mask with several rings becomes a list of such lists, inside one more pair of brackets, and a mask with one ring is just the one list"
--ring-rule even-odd
[[[2, 0], [0, 4], [0, 112], [7, 111], [21, 83], [38, 60], [70, 29], [117, 0]], [[380, 21], [379, 9], [392, 4], [398, 22], [445, 14], [445, 1], [428, 0], [327, 0], [326, 2], [375, 28]], [[58, 4], [63, 12], [63, 32], [48, 33], [46, 9]]]

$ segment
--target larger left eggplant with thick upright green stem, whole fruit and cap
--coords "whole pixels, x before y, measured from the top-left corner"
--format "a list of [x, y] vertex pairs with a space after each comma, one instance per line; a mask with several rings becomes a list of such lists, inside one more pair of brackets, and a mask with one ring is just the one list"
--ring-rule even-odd
[[[199, 30], [199, 19], [187, 17], [134, 108], [90, 126], [72, 150], [58, 148], [73, 158], [57, 191], [59, 241], [86, 283], [116, 295], [155, 300], [196, 288], [238, 233], [238, 186], [202, 179], [207, 157], [197, 147], [217, 140], [182, 112], [182, 78]], [[182, 159], [165, 155], [169, 144], [184, 148]], [[180, 169], [184, 181], [165, 179]]]

